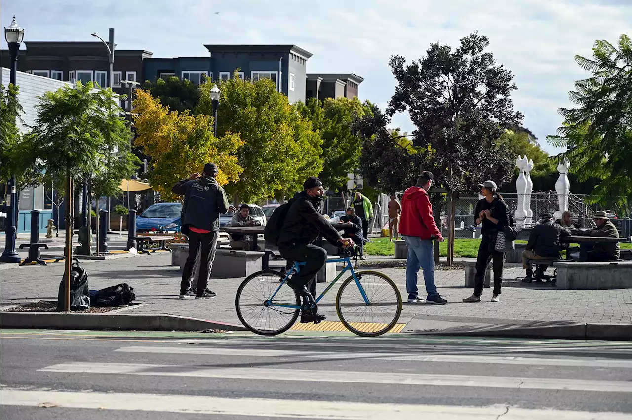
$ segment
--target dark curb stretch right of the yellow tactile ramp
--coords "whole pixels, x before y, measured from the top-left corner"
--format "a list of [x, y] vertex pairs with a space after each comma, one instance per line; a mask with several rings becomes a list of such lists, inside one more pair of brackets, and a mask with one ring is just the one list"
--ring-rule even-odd
[[526, 324], [463, 325], [412, 334], [511, 337], [523, 339], [623, 340], [632, 341], [632, 324], [541, 321]]

